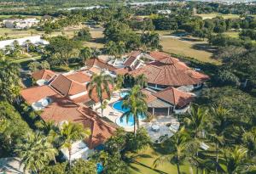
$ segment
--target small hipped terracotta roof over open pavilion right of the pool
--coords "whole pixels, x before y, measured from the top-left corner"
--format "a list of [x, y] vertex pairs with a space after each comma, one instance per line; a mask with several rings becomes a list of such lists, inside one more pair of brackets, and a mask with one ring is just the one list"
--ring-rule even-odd
[[189, 104], [195, 98], [193, 94], [185, 93], [174, 87], [168, 87], [163, 91], [153, 93], [153, 95], [166, 101], [169, 104], [177, 105], [179, 107], [183, 107], [184, 105]]

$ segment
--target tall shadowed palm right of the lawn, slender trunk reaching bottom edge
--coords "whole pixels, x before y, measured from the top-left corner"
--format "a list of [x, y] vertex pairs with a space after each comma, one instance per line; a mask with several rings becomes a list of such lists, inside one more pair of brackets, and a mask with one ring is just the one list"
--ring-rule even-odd
[[229, 109], [224, 109], [222, 106], [211, 109], [212, 118], [212, 132], [209, 133], [209, 138], [215, 143], [215, 173], [218, 173], [218, 152], [219, 146], [224, 145], [225, 133], [229, 129], [232, 122], [229, 120]]

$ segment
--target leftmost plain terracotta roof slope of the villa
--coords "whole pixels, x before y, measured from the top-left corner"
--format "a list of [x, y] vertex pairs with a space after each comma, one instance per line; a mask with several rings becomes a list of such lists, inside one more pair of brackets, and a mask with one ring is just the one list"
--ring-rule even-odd
[[53, 96], [55, 94], [55, 91], [47, 85], [40, 87], [29, 87], [20, 92], [20, 95], [28, 104], [32, 104], [42, 98]]

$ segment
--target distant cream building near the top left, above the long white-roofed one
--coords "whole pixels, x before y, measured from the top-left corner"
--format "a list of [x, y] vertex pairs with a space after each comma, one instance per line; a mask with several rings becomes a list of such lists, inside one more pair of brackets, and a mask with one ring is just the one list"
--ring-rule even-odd
[[29, 18], [25, 20], [3, 20], [3, 25], [6, 28], [26, 29], [37, 25], [39, 20], [36, 18]]

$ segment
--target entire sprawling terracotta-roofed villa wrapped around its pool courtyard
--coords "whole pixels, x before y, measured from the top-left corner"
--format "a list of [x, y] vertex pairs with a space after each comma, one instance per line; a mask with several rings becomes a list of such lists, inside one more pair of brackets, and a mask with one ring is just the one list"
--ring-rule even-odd
[[[96, 91], [89, 97], [86, 88], [93, 74], [103, 71], [113, 78], [119, 74], [143, 74], [147, 77], [148, 87], [143, 89], [143, 93], [147, 96], [148, 111], [155, 118], [146, 122], [142, 116], [140, 121], [154, 142], [160, 136], [172, 136], [177, 131], [179, 124], [173, 115], [186, 112], [195, 98], [193, 92], [209, 79], [178, 59], [161, 52], [133, 52], [126, 59], [117, 61], [89, 59], [86, 67], [67, 73], [39, 70], [32, 73], [37, 86], [21, 92], [21, 97], [27, 104], [34, 110], [41, 111], [42, 120], [55, 121], [60, 126], [73, 121], [90, 128], [90, 138], [73, 143], [72, 159], [86, 159], [91, 151], [100, 149], [119, 126], [130, 132], [134, 124], [132, 116], [129, 121], [120, 119], [125, 112], [121, 107], [122, 98], [129, 89], [113, 91], [107, 108], [101, 113]], [[103, 98], [108, 98], [107, 93], [103, 93]], [[62, 149], [62, 153], [67, 158], [67, 149]]]

